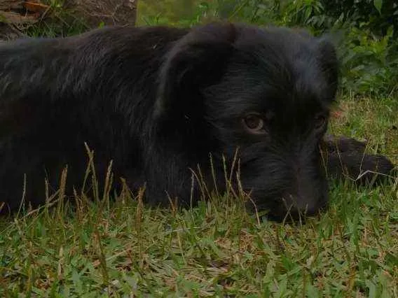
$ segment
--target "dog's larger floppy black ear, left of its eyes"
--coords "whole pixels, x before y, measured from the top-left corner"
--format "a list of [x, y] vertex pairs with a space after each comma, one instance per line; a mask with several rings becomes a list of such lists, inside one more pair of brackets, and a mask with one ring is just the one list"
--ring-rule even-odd
[[154, 118], [200, 114], [200, 90], [221, 78], [235, 38], [233, 24], [207, 24], [177, 41], [160, 69]]

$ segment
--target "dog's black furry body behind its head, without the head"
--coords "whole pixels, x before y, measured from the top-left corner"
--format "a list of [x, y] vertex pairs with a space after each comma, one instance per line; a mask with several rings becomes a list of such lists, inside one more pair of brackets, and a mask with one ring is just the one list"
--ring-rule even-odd
[[[140, 121], [155, 100], [157, 71], [186, 29], [105, 27], [67, 38], [24, 38], [0, 45], [0, 200], [43, 201], [69, 164], [69, 185], [95, 147], [99, 175], [135, 166]], [[125, 123], [134, 122], [132, 127]], [[93, 148], [94, 149], [94, 148]], [[130, 164], [128, 164], [130, 162]], [[25, 181], [26, 179], [26, 181]]]

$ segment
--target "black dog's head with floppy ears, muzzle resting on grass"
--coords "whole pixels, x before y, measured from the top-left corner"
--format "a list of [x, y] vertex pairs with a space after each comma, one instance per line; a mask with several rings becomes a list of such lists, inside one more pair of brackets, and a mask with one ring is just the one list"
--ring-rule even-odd
[[337, 72], [334, 46], [322, 38], [209, 24], [167, 55], [154, 116], [193, 162], [238, 152], [240, 183], [257, 208], [275, 218], [315, 213], [327, 201], [319, 143]]

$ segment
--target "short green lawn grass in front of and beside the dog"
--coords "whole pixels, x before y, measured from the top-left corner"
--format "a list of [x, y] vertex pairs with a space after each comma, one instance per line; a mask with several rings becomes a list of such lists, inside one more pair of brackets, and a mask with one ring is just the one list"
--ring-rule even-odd
[[[397, 99], [341, 100], [335, 134], [398, 161]], [[331, 183], [329, 209], [270, 222], [228, 197], [151, 209], [123, 192], [0, 223], [1, 297], [398, 297], [398, 180]]]

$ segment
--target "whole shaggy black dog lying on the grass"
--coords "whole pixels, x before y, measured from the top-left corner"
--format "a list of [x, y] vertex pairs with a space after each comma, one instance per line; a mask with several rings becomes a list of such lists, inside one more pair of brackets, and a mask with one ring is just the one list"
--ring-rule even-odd
[[392, 169], [384, 157], [341, 160], [334, 141], [322, 141], [337, 85], [334, 46], [284, 28], [108, 27], [1, 45], [3, 209], [22, 193], [41, 204], [44, 179], [57, 189], [65, 165], [69, 194], [80, 187], [86, 142], [99, 177], [112, 159], [132, 189], [146, 183], [151, 204], [189, 204], [192, 191], [199, 199], [198, 165], [208, 187], [225, 190], [224, 166], [237, 157], [257, 208], [274, 218], [315, 213], [327, 202], [322, 156], [337, 176], [345, 164], [354, 175]]

